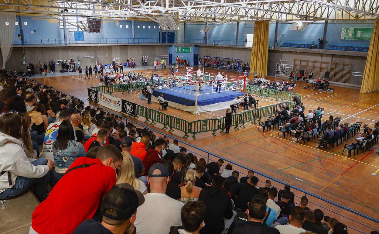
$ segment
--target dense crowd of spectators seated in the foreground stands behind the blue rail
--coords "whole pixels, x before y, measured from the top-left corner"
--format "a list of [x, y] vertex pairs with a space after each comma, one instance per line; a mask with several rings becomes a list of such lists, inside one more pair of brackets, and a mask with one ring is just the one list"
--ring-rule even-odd
[[254, 171], [207, 164], [52, 87], [6, 71], [1, 81], [0, 199], [33, 186], [30, 233], [348, 233], [306, 197], [297, 206], [290, 185], [258, 187]]

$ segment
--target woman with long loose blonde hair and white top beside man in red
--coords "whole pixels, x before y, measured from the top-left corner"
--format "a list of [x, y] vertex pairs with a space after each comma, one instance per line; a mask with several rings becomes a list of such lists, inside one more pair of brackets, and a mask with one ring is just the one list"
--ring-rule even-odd
[[134, 189], [145, 195], [147, 193], [146, 185], [135, 177], [132, 157], [130, 157], [130, 154], [126, 151], [123, 151], [121, 154], [124, 159], [122, 160], [122, 165], [117, 175], [116, 184], [128, 183], [132, 185]]

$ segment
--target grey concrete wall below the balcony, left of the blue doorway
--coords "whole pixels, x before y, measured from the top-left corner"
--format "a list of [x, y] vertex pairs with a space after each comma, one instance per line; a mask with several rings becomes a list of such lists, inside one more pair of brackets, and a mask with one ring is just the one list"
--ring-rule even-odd
[[[5, 67], [8, 70], [26, 71], [26, 65], [21, 63], [24, 54], [25, 61], [34, 65], [39, 60], [42, 63], [49, 63], [50, 60], [70, 60], [77, 59], [78, 56], [98, 56], [99, 62], [103, 64], [111, 63], [114, 57], [119, 57], [120, 62], [126, 62], [127, 58], [134, 56], [139, 66], [141, 57], [149, 56], [147, 61], [152, 65], [155, 55], [167, 55], [167, 51], [168, 45], [15, 47]], [[2, 58], [0, 60], [2, 64]], [[94, 63], [95, 59], [81, 60], [82, 66], [93, 66]]]

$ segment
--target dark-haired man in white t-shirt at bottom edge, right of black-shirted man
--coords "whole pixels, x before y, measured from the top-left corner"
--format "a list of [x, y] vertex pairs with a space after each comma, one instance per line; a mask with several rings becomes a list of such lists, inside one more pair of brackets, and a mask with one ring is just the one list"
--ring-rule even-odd
[[304, 209], [300, 206], [292, 207], [290, 217], [290, 224], [277, 225], [275, 228], [279, 230], [280, 234], [300, 234], [305, 232], [305, 229], [301, 228], [302, 223], [305, 221]]

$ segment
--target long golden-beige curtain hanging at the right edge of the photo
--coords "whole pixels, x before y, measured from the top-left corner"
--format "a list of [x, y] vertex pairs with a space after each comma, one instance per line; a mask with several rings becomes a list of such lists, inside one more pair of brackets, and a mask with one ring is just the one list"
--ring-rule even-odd
[[363, 74], [361, 93], [379, 91], [379, 19], [375, 20], [373, 36], [368, 49], [365, 71]]

